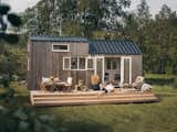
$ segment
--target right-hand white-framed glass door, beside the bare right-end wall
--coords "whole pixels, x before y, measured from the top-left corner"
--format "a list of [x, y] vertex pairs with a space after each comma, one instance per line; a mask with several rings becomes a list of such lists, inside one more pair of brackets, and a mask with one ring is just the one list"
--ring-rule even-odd
[[122, 57], [122, 82], [132, 84], [132, 57]]

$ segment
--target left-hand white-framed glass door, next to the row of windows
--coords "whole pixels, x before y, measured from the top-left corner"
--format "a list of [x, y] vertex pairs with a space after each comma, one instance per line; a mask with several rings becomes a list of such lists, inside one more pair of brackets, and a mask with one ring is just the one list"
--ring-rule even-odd
[[103, 69], [104, 69], [104, 66], [103, 66], [103, 64], [104, 64], [104, 58], [103, 57], [96, 57], [96, 59], [95, 59], [96, 62], [96, 70], [95, 70], [95, 73], [100, 76], [100, 79], [101, 79], [101, 81], [103, 81], [103, 74], [104, 74], [104, 72], [103, 72]]

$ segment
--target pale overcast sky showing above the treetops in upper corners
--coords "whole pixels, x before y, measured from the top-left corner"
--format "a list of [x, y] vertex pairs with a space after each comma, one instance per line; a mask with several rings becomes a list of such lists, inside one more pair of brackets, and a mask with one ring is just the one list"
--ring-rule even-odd
[[[33, 7], [39, 0], [1, 0], [2, 2], [10, 3], [12, 11], [22, 12], [29, 7]], [[177, 11], [177, 0], [146, 0], [150, 7], [150, 13], [155, 14], [160, 10], [163, 4], [167, 4], [171, 10]], [[139, 0], [132, 0], [131, 10], [135, 10]]]

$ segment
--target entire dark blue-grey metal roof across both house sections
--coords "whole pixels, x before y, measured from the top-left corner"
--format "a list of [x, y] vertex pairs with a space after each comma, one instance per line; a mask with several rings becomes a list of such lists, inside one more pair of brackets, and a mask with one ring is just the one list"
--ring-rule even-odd
[[87, 40], [74, 36], [32, 35], [31, 41], [38, 42], [84, 42], [88, 43], [88, 54], [140, 55], [138, 46], [128, 40]]

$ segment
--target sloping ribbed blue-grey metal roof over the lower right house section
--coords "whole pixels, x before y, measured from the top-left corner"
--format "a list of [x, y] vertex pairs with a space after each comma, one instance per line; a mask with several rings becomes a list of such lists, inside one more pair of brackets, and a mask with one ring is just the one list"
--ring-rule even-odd
[[94, 40], [88, 41], [90, 54], [118, 54], [118, 55], [140, 55], [142, 52], [135, 43], [126, 40]]

